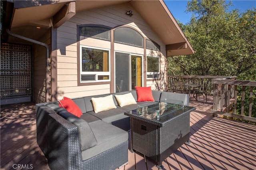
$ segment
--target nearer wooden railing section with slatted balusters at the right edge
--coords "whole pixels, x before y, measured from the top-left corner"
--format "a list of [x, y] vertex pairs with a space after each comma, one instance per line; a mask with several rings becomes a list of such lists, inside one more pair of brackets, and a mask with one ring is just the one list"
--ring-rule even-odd
[[[253, 103], [253, 89], [256, 88], [256, 81], [243, 81], [232, 79], [212, 79], [213, 84], [213, 109], [214, 116], [223, 117], [236, 117], [238, 119], [244, 119], [246, 121], [256, 122], [256, 118], [252, 117]], [[242, 94], [238, 95], [238, 87], [242, 88]], [[249, 88], [249, 92], [246, 93], [246, 88]], [[248, 115], [245, 115], [245, 98], [249, 97], [249, 109], [246, 111]], [[241, 108], [240, 113], [237, 112], [237, 104], [240, 100]], [[255, 115], [254, 115], [255, 116]]]

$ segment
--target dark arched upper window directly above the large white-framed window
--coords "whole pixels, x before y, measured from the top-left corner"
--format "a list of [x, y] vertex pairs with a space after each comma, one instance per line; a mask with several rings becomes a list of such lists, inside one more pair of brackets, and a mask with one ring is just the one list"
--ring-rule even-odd
[[84, 38], [96, 38], [110, 41], [110, 28], [101, 25], [79, 26], [80, 40]]

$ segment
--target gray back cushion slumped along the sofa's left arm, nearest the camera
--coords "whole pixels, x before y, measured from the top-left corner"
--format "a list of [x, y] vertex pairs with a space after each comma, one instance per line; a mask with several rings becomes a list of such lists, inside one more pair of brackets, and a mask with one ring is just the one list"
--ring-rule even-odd
[[92, 132], [92, 129], [86, 121], [80, 119], [72, 113], [69, 113], [68, 111], [60, 111], [59, 115], [70, 123], [76, 125], [81, 151], [91, 148], [97, 144], [97, 140]]

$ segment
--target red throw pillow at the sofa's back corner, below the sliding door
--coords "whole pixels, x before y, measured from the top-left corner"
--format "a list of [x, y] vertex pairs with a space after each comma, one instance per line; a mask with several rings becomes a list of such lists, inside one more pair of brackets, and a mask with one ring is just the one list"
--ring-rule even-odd
[[137, 101], [155, 101], [152, 95], [151, 87], [135, 87], [137, 92]]

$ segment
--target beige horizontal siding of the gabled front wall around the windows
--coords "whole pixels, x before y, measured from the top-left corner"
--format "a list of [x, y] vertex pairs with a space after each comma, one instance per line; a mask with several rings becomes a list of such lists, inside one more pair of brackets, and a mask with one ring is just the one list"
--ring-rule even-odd
[[[132, 10], [133, 16], [129, 17], [125, 14], [126, 11]], [[111, 43], [103, 40], [87, 38], [77, 42], [77, 25], [83, 24], [100, 24], [115, 28], [117, 26], [129, 26], [140, 32], [144, 38], [150, 38], [158, 43], [161, 47], [160, 52], [160, 69], [161, 77], [164, 80], [145, 80], [144, 86], [151, 86], [152, 89], [164, 90], [165, 85], [156, 85], [166, 81], [166, 51], [165, 45], [160, 38], [150, 29], [148, 24], [129, 4], [124, 3], [116, 6], [108, 6], [104, 8], [96, 8], [87, 11], [77, 12], [68, 22], [65, 22], [57, 29], [57, 86], [58, 100], [63, 96], [67, 97], [82, 97], [89, 95], [98, 95], [110, 93], [110, 84], [101, 85], [84, 85], [78, 86], [78, 66], [77, 57], [79, 47], [77, 45], [88, 45], [92, 47], [101, 47], [110, 49]], [[144, 54], [143, 48], [132, 47], [128, 45], [114, 43], [115, 51], [124, 51], [130, 53]], [[152, 52], [152, 51], [151, 51]], [[154, 51], [153, 53], [155, 53]], [[156, 52], [159, 53], [159, 52]], [[143, 56], [146, 57], [146, 54]], [[144, 59], [145, 61], [145, 59]], [[113, 67], [113, 65], [111, 65]], [[144, 69], [145, 70], [145, 69]], [[146, 73], [144, 73], [145, 75]], [[146, 79], [146, 78], [145, 78]], [[161, 88], [158, 88], [161, 87]]]

